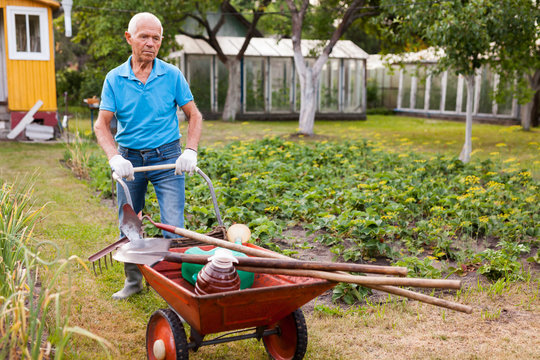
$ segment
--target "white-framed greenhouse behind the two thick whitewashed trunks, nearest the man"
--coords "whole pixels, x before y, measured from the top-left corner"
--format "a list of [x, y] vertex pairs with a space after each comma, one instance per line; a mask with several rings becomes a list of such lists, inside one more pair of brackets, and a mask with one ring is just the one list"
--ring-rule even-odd
[[[204, 40], [177, 35], [181, 51], [170, 58], [184, 72], [205, 118], [219, 118], [228, 86], [228, 70]], [[225, 55], [235, 56], [243, 37], [218, 37]], [[317, 40], [303, 40], [309, 61]], [[239, 119], [298, 118], [300, 83], [290, 39], [253, 38], [241, 61]], [[348, 40], [338, 41], [321, 73], [317, 118], [364, 119], [368, 54]]]

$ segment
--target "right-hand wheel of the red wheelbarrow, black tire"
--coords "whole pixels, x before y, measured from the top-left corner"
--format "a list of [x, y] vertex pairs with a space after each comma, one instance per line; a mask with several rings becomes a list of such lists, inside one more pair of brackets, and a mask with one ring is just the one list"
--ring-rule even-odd
[[300, 360], [307, 350], [307, 326], [301, 309], [290, 313], [270, 328], [279, 333], [263, 337], [266, 352], [275, 360]]

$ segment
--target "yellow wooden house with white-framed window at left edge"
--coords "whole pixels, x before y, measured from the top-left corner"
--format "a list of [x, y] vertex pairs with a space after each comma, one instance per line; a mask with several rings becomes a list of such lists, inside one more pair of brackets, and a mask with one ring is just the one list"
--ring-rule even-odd
[[54, 0], [0, 0], [0, 138], [32, 108], [35, 123], [57, 125], [52, 12], [59, 7]]

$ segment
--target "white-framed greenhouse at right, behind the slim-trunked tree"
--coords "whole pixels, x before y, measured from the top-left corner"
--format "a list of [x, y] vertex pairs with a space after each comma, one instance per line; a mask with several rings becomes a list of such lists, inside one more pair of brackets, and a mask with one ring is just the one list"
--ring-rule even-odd
[[[437, 53], [425, 50], [408, 54], [398, 64], [370, 55], [368, 60], [368, 106], [393, 108], [398, 112], [441, 118], [464, 118], [467, 88], [463, 76], [452, 71], [434, 72]], [[517, 100], [494, 100], [498, 76], [489, 68], [475, 79], [473, 118], [477, 121], [519, 123]], [[371, 95], [371, 96], [370, 96]]]

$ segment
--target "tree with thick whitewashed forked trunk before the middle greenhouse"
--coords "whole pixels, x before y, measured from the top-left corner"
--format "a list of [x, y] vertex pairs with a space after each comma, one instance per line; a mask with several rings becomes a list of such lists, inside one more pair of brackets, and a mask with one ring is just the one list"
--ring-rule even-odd
[[[327, 62], [332, 49], [351, 24], [361, 18], [373, 16], [377, 12], [366, 9], [368, 0], [327, 0], [317, 6], [309, 0], [285, 0], [291, 13], [291, 37], [294, 51], [294, 65], [300, 80], [300, 118], [299, 133], [313, 135], [315, 112], [317, 110], [317, 87], [321, 71]], [[310, 10], [313, 10], [310, 12]], [[306, 16], [311, 17], [310, 26], [324, 29], [330, 38], [323, 44], [323, 49], [316, 57], [313, 65], [308, 65], [302, 54], [302, 33]], [[338, 25], [334, 26], [337, 22]]]

